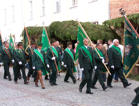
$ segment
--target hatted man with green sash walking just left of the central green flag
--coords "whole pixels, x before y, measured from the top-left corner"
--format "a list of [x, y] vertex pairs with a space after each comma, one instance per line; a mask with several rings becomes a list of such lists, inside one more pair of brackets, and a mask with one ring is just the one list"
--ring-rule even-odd
[[64, 51], [64, 57], [63, 57], [62, 65], [64, 65], [64, 67], [67, 68], [64, 82], [68, 83], [69, 82], [68, 79], [69, 79], [69, 77], [71, 77], [73, 83], [75, 84], [76, 79], [73, 75], [73, 71], [76, 69], [75, 69], [75, 65], [74, 65], [74, 52], [72, 50], [72, 43], [71, 42], [67, 43], [67, 48]]

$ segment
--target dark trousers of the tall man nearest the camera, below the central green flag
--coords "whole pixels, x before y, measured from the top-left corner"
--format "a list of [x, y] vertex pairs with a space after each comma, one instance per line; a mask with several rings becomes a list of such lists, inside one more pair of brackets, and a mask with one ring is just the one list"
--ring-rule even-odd
[[87, 91], [91, 91], [92, 69], [84, 69], [83, 76], [79, 87], [82, 89], [87, 84]]

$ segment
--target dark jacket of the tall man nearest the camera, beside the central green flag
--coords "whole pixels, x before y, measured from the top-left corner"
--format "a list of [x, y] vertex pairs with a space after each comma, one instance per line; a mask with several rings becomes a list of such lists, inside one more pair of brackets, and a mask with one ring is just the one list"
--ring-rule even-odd
[[90, 70], [94, 67], [94, 60], [93, 60], [93, 51], [91, 47], [88, 47], [88, 50], [92, 56], [92, 62], [90, 61], [89, 56], [84, 52], [82, 48], [79, 49], [79, 64], [81, 68]]

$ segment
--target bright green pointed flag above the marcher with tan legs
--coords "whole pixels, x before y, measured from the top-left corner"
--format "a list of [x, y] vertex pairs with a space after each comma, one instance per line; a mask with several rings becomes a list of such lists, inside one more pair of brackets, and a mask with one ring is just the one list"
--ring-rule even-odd
[[45, 28], [43, 28], [43, 31], [42, 31], [42, 41], [41, 41], [41, 43], [42, 43], [42, 51], [46, 51], [50, 47]]

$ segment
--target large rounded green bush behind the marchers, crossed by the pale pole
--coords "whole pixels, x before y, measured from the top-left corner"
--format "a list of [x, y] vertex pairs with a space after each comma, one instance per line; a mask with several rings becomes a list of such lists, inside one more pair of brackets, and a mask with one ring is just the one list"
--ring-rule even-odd
[[[81, 23], [91, 40], [108, 40], [117, 36], [110, 28], [89, 22]], [[50, 35], [62, 41], [77, 40], [78, 23], [76, 21], [53, 22], [50, 26]]]

